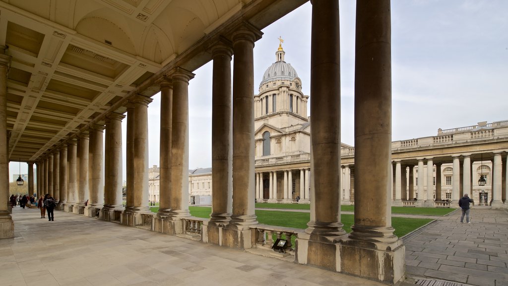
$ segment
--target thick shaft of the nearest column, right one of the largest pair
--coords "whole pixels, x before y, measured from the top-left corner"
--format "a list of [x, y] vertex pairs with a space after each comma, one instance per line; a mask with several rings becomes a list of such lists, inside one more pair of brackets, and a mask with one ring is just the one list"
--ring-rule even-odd
[[[392, 243], [397, 241], [397, 237], [393, 234], [390, 208], [390, 1], [357, 2], [356, 23], [355, 224], [350, 237]], [[372, 174], [376, 174], [375, 178]], [[378, 199], [372, 200], [372, 197]]]

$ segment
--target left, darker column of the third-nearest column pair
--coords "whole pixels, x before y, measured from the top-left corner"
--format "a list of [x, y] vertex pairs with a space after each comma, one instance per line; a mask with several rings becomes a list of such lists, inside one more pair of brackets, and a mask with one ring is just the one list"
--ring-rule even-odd
[[[168, 213], [171, 211], [171, 133], [173, 128], [173, 82], [170, 79], [165, 78], [161, 81], [160, 87], [161, 138], [159, 167], [159, 210], [157, 212], [157, 217], [162, 218], [167, 217]], [[212, 196], [212, 198], [213, 197], [214, 196]]]

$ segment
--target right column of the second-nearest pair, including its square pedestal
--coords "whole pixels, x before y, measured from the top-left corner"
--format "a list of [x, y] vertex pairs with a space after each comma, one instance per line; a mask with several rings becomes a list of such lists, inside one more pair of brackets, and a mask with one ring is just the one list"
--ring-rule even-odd
[[257, 224], [254, 175], [254, 42], [261, 31], [243, 22], [233, 33], [233, 213], [227, 246], [251, 247], [249, 225]]

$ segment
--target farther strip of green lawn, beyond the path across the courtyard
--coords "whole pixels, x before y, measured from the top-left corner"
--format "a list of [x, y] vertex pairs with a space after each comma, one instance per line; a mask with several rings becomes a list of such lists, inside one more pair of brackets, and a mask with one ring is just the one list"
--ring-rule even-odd
[[[256, 203], [256, 208], [266, 209], [289, 209], [289, 210], [310, 210], [309, 204], [270, 204]], [[343, 212], [354, 212], [355, 206], [340, 206]], [[419, 214], [419, 215], [446, 215], [455, 209], [447, 208], [414, 208], [414, 207], [392, 207], [393, 214]]]

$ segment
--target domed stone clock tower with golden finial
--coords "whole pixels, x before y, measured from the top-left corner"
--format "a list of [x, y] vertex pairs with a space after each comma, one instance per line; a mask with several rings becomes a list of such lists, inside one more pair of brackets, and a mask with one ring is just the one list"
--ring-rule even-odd
[[277, 157], [310, 152], [309, 96], [302, 93], [302, 81], [284, 61], [282, 39], [275, 63], [266, 69], [254, 96], [254, 126], [257, 157]]

